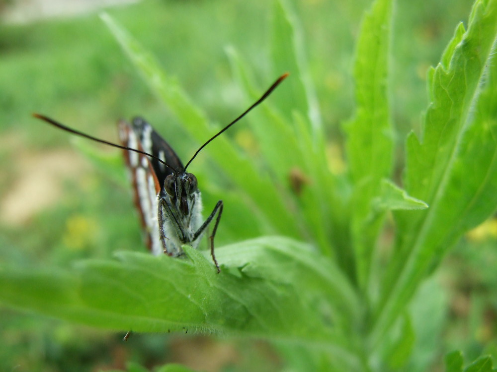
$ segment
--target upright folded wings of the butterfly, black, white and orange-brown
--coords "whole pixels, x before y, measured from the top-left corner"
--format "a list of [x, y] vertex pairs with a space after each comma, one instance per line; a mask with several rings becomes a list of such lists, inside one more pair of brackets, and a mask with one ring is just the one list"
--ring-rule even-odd
[[147, 246], [154, 254], [161, 254], [165, 248], [159, 237], [158, 194], [172, 169], [183, 169], [183, 165], [167, 142], [141, 118], [135, 118], [132, 125], [121, 121], [119, 136], [124, 146], [157, 156], [168, 165], [166, 167], [156, 159], [151, 160], [146, 155], [124, 150], [133, 184], [134, 202], [140, 214]]

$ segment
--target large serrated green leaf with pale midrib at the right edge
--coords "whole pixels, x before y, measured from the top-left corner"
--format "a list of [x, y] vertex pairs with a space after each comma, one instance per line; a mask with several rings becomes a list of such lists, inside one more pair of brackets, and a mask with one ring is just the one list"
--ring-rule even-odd
[[495, 81], [497, 1], [476, 1], [429, 74], [432, 102], [421, 140], [407, 141], [405, 189], [429, 208], [399, 211], [397, 247], [375, 310], [373, 344], [402, 312], [419, 282], [461, 234], [497, 206]]

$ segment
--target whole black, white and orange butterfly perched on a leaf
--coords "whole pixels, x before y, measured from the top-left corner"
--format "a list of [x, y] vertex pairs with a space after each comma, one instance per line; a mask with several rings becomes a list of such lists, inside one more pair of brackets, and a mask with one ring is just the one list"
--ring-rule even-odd
[[210, 251], [216, 269], [220, 272], [214, 254], [214, 237], [223, 213], [223, 201], [219, 200], [207, 219], [203, 220], [198, 182], [192, 173], [187, 172], [187, 168], [207, 144], [265, 100], [287, 76], [288, 73], [281, 75], [242, 115], [200, 146], [185, 166], [166, 140], [141, 117], [134, 118], [131, 124], [119, 122], [122, 143], [119, 145], [70, 128], [47, 116], [33, 116], [70, 133], [124, 150], [135, 205], [147, 246], [154, 254], [166, 253], [178, 257], [184, 254], [182, 246], [185, 244], [197, 248], [200, 239], [214, 221], [209, 235]]

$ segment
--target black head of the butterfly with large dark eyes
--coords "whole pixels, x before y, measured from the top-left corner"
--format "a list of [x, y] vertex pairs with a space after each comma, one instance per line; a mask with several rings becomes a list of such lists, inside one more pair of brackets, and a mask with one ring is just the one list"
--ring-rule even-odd
[[166, 176], [164, 181], [164, 189], [172, 203], [184, 216], [187, 216], [193, 207], [197, 186], [195, 175], [186, 172], [174, 172]]

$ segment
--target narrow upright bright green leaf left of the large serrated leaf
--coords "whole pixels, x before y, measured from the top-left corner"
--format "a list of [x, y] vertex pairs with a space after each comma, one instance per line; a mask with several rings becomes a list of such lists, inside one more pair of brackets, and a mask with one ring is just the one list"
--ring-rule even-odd
[[365, 290], [375, 242], [383, 225], [383, 215], [371, 219], [372, 200], [380, 192], [380, 182], [390, 177], [393, 164], [393, 130], [387, 92], [392, 0], [377, 0], [366, 13], [359, 35], [354, 77], [357, 108], [355, 118], [345, 124], [352, 194], [352, 247], [356, 280]]

